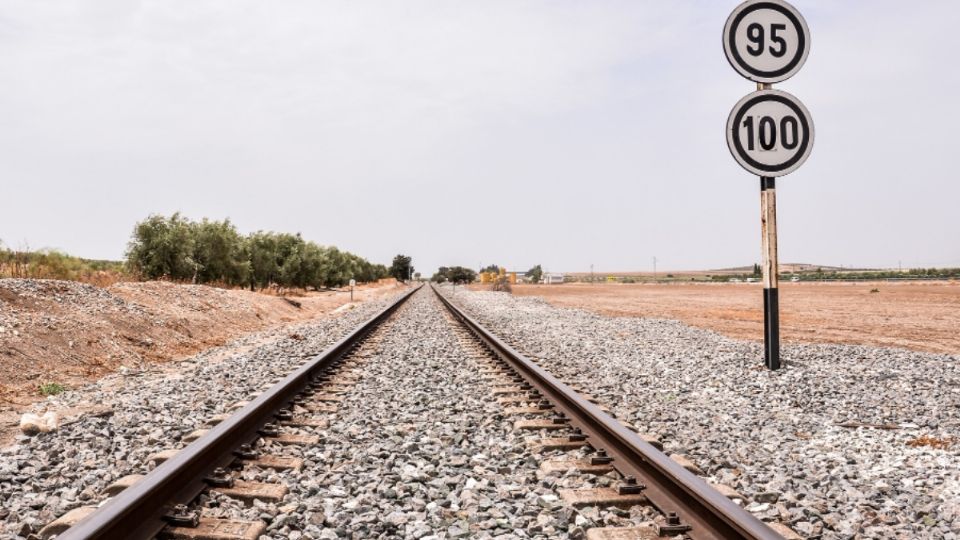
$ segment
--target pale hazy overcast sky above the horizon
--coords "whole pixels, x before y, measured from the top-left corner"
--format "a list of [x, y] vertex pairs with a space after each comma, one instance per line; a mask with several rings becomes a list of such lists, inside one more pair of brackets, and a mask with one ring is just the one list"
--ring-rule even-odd
[[[0, 0], [0, 240], [119, 259], [180, 211], [425, 274], [752, 264], [737, 3]], [[794, 6], [781, 262], [960, 266], [960, 3]]]

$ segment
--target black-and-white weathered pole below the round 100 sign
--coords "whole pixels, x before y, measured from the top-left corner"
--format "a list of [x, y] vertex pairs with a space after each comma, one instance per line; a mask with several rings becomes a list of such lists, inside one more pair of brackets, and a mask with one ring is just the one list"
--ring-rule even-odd
[[780, 299], [777, 289], [777, 190], [775, 179], [760, 177], [760, 234], [763, 250], [764, 363], [780, 369]]

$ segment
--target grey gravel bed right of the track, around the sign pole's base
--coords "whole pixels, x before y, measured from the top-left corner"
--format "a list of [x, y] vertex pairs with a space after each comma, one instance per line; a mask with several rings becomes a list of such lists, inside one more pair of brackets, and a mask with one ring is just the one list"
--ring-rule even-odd
[[786, 345], [788, 367], [769, 372], [761, 344], [677, 321], [459, 287], [454, 300], [761, 519], [821, 538], [960, 537], [955, 356]]

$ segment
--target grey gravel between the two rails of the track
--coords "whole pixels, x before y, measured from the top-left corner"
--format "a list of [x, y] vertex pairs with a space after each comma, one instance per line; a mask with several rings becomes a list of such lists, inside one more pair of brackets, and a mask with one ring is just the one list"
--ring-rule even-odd
[[[649, 509], [574, 510], [560, 487], [613, 485], [615, 474], [544, 475], [549, 455], [514, 431], [478, 364], [428, 289], [376, 337], [379, 344], [330, 416], [321, 444], [295, 451], [301, 471], [251, 473], [291, 492], [276, 505], [216, 499], [208, 516], [265, 519], [270, 538], [583, 538], [595, 524], [629, 526]], [[309, 431], [309, 430], [308, 430]]]

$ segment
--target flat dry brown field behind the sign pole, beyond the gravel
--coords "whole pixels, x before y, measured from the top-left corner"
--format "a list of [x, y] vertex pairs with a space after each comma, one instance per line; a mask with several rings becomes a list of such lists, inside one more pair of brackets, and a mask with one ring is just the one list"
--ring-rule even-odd
[[[513, 294], [606, 315], [677, 319], [740, 339], [763, 337], [759, 284], [565, 283], [516, 285]], [[781, 283], [780, 312], [787, 342], [960, 354], [958, 281]]]

